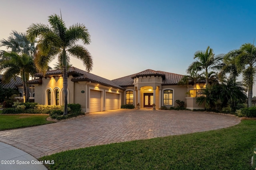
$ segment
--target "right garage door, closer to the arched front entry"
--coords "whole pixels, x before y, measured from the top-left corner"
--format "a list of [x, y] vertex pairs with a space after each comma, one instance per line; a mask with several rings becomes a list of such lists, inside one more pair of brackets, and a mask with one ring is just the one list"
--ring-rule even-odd
[[106, 110], [119, 109], [119, 94], [106, 92]]

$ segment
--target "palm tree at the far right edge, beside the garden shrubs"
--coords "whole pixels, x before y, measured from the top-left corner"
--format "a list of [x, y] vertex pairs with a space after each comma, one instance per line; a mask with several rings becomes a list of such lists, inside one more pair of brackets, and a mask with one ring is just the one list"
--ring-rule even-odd
[[252, 107], [252, 86], [256, 76], [256, 48], [251, 43], [243, 44], [239, 49], [228, 52], [225, 56], [234, 64], [237, 74], [242, 74], [242, 81], [248, 92], [248, 107]]

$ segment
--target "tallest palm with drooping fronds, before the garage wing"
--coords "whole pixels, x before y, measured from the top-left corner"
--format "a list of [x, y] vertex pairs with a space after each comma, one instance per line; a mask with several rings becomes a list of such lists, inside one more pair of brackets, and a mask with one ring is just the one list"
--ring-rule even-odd
[[63, 69], [63, 95], [64, 95], [64, 115], [67, 112], [68, 96], [68, 75], [67, 60], [69, 55], [82, 60], [87, 71], [92, 70], [92, 57], [89, 51], [82, 45], [77, 45], [82, 40], [84, 45], [90, 44], [88, 29], [80, 23], [66, 27], [60, 16], [54, 14], [48, 17], [49, 25], [36, 23], [28, 27], [28, 37], [38, 40], [38, 50], [36, 51], [35, 64], [40, 72], [45, 74], [48, 63], [55, 57], [62, 62]]

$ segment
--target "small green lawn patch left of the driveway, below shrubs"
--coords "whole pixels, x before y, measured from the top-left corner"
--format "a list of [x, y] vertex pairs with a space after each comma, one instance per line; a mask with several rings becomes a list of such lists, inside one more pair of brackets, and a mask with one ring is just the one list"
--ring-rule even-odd
[[54, 123], [52, 121], [47, 121], [46, 120], [47, 117], [49, 117], [49, 115], [39, 115], [39, 114], [0, 115], [0, 131]]

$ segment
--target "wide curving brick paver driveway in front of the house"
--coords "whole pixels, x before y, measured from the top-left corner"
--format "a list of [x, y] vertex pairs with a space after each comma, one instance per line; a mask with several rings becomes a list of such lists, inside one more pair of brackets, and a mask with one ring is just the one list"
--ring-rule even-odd
[[117, 109], [82, 118], [0, 132], [0, 141], [39, 158], [62, 150], [202, 132], [236, 125], [240, 119], [193, 111]]

